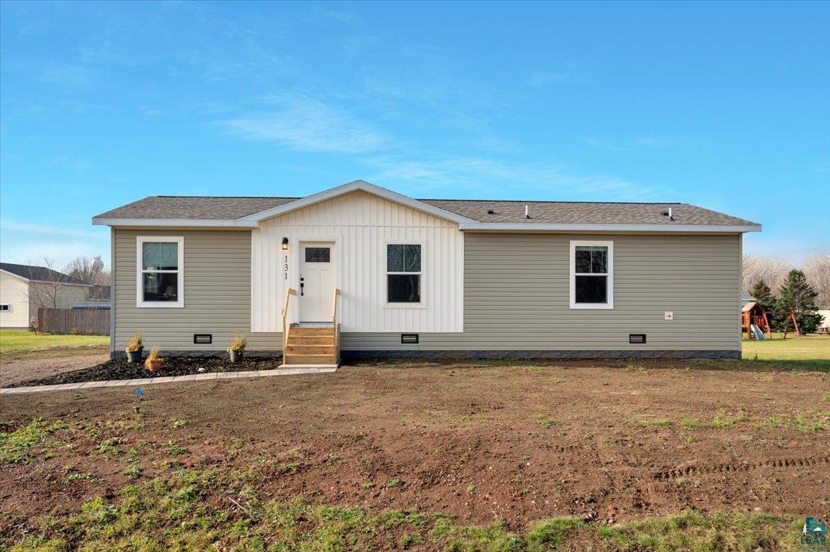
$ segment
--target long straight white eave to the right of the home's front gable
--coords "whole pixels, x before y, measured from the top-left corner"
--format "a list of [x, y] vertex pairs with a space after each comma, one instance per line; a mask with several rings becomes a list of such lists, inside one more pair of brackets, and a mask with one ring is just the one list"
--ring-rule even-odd
[[462, 222], [459, 230], [476, 232], [760, 232], [760, 224], [590, 224], [551, 222]]

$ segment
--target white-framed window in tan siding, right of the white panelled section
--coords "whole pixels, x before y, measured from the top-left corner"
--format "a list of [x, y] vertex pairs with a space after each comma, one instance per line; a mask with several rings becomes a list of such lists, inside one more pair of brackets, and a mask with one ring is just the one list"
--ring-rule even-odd
[[570, 308], [613, 309], [613, 242], [570, 242]]

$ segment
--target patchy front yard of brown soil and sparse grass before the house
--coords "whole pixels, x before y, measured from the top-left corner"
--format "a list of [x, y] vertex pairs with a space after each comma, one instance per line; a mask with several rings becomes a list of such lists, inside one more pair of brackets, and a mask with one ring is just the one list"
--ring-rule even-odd
[[402, 362], [4, 395], [0, 550], [794, 552], [830, 517], [804, 485], [828, 378]]

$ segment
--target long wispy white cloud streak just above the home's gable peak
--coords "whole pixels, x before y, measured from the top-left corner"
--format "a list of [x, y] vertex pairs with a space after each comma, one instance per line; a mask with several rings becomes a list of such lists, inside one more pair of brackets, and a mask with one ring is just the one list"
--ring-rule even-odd
[[[222, 123], [227, 132], [243, 139], [275, 142], [292, 149], [338, 154], [364, 154], [355, 160], [366, 165], [365, 178], [380, 185], [398, 185], [420, 197], [427, 190], [476, 189], [496, 195], [534, 193], [544, 198], [632, 200], [652, 198], [654, 190], [608, 174], [591, 174], [549, 160], [516, 161], [519, 151], [491, 155], [439, 153], [438, 146], [418, 150], [382, 134], [374, 125], [320, 100], [260, 97], [260, 104], [280, 109], [245, 115]], [[484, 138], [486, 140], [486, 138]], [[510, 149], [512, 144], [493, 140], [481, 149]]]

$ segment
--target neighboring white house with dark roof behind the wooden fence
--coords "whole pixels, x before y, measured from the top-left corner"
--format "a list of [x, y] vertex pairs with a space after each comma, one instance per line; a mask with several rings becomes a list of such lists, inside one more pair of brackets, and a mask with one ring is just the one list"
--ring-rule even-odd
[[71, 309], [92, 286], [46, 266], [0, 262], [0, 327], [27, 328], [41, 306]]

